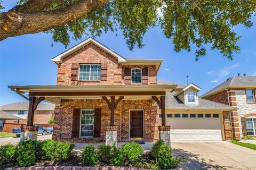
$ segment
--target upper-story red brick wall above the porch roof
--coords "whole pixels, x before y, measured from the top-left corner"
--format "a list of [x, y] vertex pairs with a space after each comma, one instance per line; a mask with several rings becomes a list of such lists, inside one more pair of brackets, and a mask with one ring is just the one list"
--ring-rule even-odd
[[[72, 63], [80, 64], [101, 64], [107, 63], [107, 81], [79, 81], [71, 80], [71, 65]], [[140, 66], [127, 66], [131, 68], [148, 67], [149, 78], [148, 84], [156, 84], [156, 65], [140, 65]], [[79, 75], [78, 75], [79, 77]], [[116, 57], [102, 50], [97, 45], [92, 43], [77, 50], [77, 52], [70, 54], [63, 58], [63, 63], [59, 64], [57, 85], [119, 85], [124, 84], [124, 66], [121, 63], [118, 64]]]

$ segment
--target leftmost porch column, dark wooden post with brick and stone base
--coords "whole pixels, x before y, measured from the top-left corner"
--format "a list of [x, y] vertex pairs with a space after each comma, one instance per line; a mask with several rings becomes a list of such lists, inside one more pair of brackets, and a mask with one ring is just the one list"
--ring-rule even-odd
[[44, 97], [39, 97], [38, 99], [36, 97], [29, 97], [29, 107], [28, 107], [28, 119], [27, 124], [24, 126], [21, 126], [21, 134], [20, 134], [20, 140], [23, 139], [37, 139], [37, 131], [38, 127], [34, 126], [34, 114], [35, 110], [38, 106], [38, 104], [44, 100]]

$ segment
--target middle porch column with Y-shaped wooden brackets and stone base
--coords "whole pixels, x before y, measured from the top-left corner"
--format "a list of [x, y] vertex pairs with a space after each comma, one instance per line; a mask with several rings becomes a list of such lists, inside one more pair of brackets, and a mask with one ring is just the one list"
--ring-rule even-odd
[[124, 99], [124, 96], [120, 96], [115, 101], [115, 96], [110, 96], [110, 101], [106, 96], [102, 96], [102, 99], [105, 100], [108, 104], [108, 108], [110, 109], [110, 126], [106, 126], [106, 145], [113, 146], [114, 143], [117, 145], [117, 128], [118, 126], [114, 126], [114, 115], [115, 109], [117, 108], [118, 103]]

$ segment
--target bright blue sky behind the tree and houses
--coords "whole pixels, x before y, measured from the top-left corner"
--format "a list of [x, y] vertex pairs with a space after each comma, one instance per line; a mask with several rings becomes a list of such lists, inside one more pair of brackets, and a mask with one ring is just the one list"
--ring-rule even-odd
[[[15, 1], [4, 1], [6, 10], [15, 5]], [[253, 18], [256, 24], [256, 18]], [[207, 49], [207, 55], [195, 62], [194, 46], [191, 52], [182, 50], [174, 52], [171, 40], [166, 39], [160, 28], [150, 29], [145, 37], [145, 47], [134, 48], [130, 51], [125, 44], [121, 32], [118, 36], [113, 32], [102, 34], [96, 38], [102, 44], [115, 50], [118, 54], [129, 58], [163, 59], [161, 69], [158, 72], [158, 80], [169, 80], [179, 83], [189, 82], [197, 84], [204, 92], [217, 86], [229, 77], [237, 73], [256, 75], [256, 25], [246, 29], [241, 25], [234, 28], [242, 38], [238, 41], [241, 53], [234, 55], [231, 61], [223, 57], [218, 50]], [[71, 40], [68, 48], [78, 44], [83, 39]], [[56, 84], [57, 65], [51, 60], [52, 57], [63, 52], [62, 44], [53, 43], [51, 35], [36, 33], [19, 37], [7, 38], [0, 41], [0, 105], [18, 101], [26, 101], [15, 92], [7, 88], [8, 85], [49, 85]]]

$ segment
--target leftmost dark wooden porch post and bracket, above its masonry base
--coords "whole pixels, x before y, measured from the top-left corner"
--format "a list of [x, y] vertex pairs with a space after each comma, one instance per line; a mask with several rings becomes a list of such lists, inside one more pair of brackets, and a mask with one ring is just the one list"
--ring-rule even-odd
[[28, 120], [27, 126], [33, 126], [34, 123], [34, 114], [38, 104], [44, 100], [44, 97], [29, 97], [29, 107], [28, 107]]

